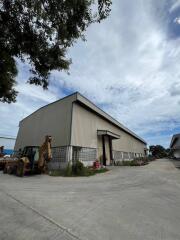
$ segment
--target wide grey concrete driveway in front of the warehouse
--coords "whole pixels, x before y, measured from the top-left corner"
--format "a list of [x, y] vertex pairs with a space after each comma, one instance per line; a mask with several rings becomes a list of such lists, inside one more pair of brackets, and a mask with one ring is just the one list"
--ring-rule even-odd
[[180, 170], [162, 159], [88, 178], [0, 174], [0, 239], [179, 240]]

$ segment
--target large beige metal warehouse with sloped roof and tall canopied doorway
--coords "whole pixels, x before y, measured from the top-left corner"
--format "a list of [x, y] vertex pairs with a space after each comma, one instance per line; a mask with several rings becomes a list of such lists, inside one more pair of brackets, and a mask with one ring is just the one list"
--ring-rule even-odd
[[19, 124], [15, 150], [39, 146], [52, 136], [52, 167], [81, 160], [104, 165], [146, 154], [146, 142], [80, 93], [48, 104]]

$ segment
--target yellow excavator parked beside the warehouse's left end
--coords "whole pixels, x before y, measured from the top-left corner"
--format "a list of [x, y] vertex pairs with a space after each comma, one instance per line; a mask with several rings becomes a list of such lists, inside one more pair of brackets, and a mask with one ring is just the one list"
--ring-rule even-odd
[[51, 141], [51, 136], [46, 136], [42, 146], [26, 146], [17, 160], [5, 160], [3, 172], [19, 177], [46, 173], [52, 159]]

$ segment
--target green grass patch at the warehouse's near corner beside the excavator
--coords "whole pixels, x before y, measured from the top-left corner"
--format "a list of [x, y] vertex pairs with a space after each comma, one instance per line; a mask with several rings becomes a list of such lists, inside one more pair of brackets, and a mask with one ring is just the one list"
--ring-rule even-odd
[[77, 161], [75, 165], [68, 164], [65, 169], [51, 170], [50, 176], [63, 176], [63, 177], [89, 177], [98, 173], [104, 173], [109, 171], [107, 168], [94, 169], [85, 167], [82, 162]]

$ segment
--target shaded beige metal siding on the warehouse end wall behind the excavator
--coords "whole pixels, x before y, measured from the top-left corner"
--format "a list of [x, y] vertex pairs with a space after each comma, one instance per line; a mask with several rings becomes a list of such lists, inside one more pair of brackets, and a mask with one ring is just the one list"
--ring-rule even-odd
[[71, 110], [74, 96], [45, 106], [20, 122], [15, 150], [41, 145], [45, 135], [52, 136], [52, 146], [70, 144]]

